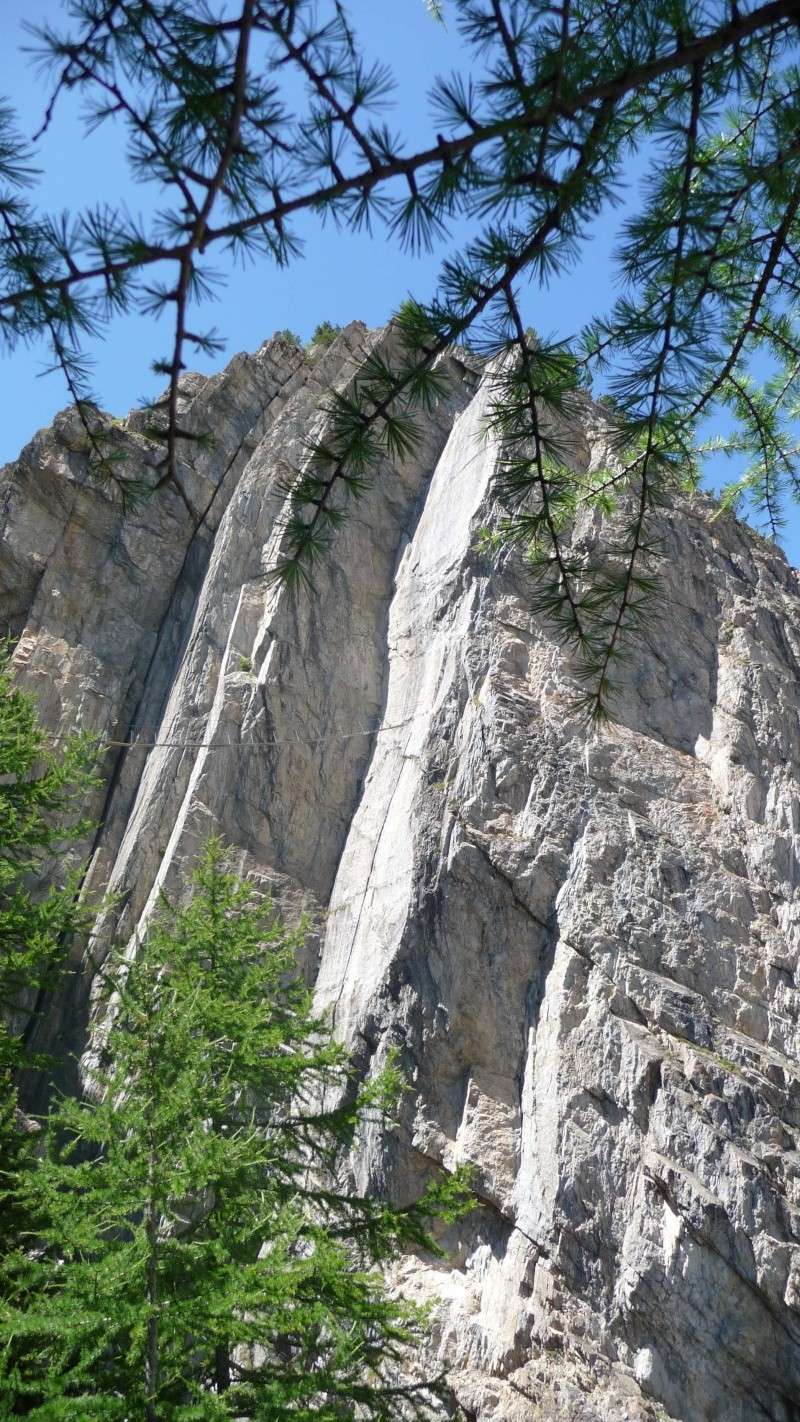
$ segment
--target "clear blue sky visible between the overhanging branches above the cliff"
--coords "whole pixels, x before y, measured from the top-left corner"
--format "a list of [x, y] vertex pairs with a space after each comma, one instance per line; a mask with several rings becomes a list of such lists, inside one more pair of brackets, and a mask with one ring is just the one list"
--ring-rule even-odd
[[[423, 0], [350, 0], [348, 10], [365, 53], [388, 63], [396, 77], [395, 105], [388, 115], [392, 127], [406, 134], [409, 145], [429, 138], [426, 95], [433, 78], [452, 68], [467, 68], [472, 58], [455, 28], [435, 24]], [[30, 43], [21, 26], [58, 23], [63, 14], [61, 0], [0, 0], [0, 95], [11, 100], [26, 134], [33, 134], [41, 122], [48, 95], [20, 54], [20, 46]], [[40, 144], [38, 164], [43, 176], [37, 202], [47, 210], [122, 201], [131, 212], [146, 215], [155, 205], [155, 193], [131, 183], [122, 144], [111, 128], [91, 137], [84, 134], [71, 95], [61, 101]], [[627, 201], [635, 201], [635, 186], [634, 172]], [[584, 259], [574, 272], [550, 292], [527, 294], [526, 316], [537, 330], [570, 336], [612, 297], [610, 255], [621, 210], [605, 215], [588, 235]], [[206, 326], [216, 324], [225, 334], [226, 353], [216, 361], [193, 357], [193, 368], [219, 368], [236, 351], [254, 350], [281, 327], [306, 340], [321, 320], [344, 324], [361, 319], [378, 326], [408, 293], [432, 292], [443, 255], [412, 257], [382, 233], [372, 239], [337, 233], [334, 228], [320, 229], [313, 220], [306, 220], [300, 233], [306, 240], [304, 256], [288, 272], [260, 263], [229, 273], [216, 309], [206, 313]], [[463, 236], [465, 229], [456, 229], [452, 243], [458, 246]], [[124, 414], [141, 397], [155, 394], [163, 380], [151, 374], [149, 363], [168, 347], [169, 330], [153, 330], [153, 323], [139, 316], [117, 320], [105, 340], [92, 348], [94, 388], [104, 407]], [[18, 348], [4, 358], [0, 462], [14, 458], [33, 432], [67, 402], [61, 377], [41, 377], [44, 354], [41, 348]], [[729, 476], [728, 466], [715, 474]], [[800, 563], [799, 510], [790, 516], [784, 547]]]

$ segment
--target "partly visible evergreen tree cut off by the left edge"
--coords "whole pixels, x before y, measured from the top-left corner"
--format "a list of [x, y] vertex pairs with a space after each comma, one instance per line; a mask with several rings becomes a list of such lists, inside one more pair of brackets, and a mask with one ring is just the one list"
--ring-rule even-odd
[[17, 1096], [26, 1069], [41, 1061], [26, 1051], [26, 1028], [88, 917], [77, 872], [55, 865], [88, 829], [92, 759], [87, 737], [71, 737], [61, 751], [47, 745], [33, 698], [13, 683], [10, 647], [0, 644], [0, 1251], [23, 1229], [13, 1182], [33, 1162], [31, 1123]]

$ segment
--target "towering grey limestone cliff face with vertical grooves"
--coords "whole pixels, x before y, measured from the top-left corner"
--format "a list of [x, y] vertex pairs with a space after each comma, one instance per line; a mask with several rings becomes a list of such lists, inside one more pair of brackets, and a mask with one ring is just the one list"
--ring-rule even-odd
[[[449, 363], [423, 447], [379, 471], [315, 597], [264, 576], [280, 482], [325, 391], [391, 334], [274, 338], [185, 381], [216, 448], [121, 516], [68, 417], [3, 474], [0, 623], [54, 731], [109, 741], [90, 882], [146, 921], [219, 830], [287, 913], [364, 1071], [399, 1045], [406, 1121], [354, 1169], [408, 1194], [470, 1160], [432, 1351], [467, 1418], [800, 1418], [800, 584], [698, 499], [665, 512], [665, 611], [620, 724], [514, 557], [476, 552], [486, 381]], [[577, 462], [604, 452], [587, 401]], [[119, 439], [155, 451], [136, 417]], [[578, 535], [591, 539], [595, 530]], [[151, 742], [158, 742], [152, 745]], [[47, 1039], [90, 1041], [91, 983]]]

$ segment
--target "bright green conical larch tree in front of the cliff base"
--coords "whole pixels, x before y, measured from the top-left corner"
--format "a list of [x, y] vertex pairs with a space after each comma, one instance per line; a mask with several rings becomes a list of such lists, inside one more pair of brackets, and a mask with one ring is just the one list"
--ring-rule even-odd
[[313, 1015], [297, 936], [206, 849], [188, 907], [118, 958], [92, 1099], [64, 1101], [27, 1180], [36, 1249], [6, 1261], [0, 1394], [37, 1422], [429, 1415], [419, 1314], [377, 1273], [431, 1249], [445, 1177], [394, 1209], [337, 1187], [391, 1111]]

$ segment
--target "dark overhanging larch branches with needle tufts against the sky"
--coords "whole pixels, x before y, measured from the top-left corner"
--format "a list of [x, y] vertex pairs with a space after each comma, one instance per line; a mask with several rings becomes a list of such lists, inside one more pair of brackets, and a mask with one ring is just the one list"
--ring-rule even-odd
[[[284, 267], [300, 252], [293, 222], [313, 213], [381, 228], [409, 250], [445, 249], [453, 219], [467, 218], [476, 236], [445, 255], [429, 301], [404, 303], [391, 358], [374, 353], [331, 398], [325, 431], [287, 481], [274, 572], [313, 583], [348, 503], [381, 461], [416, 445], [419, 417], [445, 388], [439, 357], [469, 333], [499, 371], [503, 528], [527, 549], [536, 604], [570, 644], [578, 704], [598, 720], [625, 637], [656, 604], [652, 515], [705, 452], [699, 421], [715, 410], [735, 421], [725, 449], [749, 462], [729, 502], [746, 501], [774, 532], [786, 498], [800, 495], [797, 7], [426, 3], [438, 20], [446, 9], [475, 64], [436, 82], [429, 139], [408, 151], [382, 117], [391, 73], [362, 57], [340, 0], [234, 0], [225, 17], [205, 0], [71, 0], [68, 33], [38, 31], [54, 90], [45, 122], [61, 91], [78, 90], [88, 125], [125, 125], [134, 176], [168, 201], [152, 229], [121, 209], [40, 216], [27, 195], [33, 154], [4, 111], [0, 336], [50, 343], [95, 465], [125, 492], [104, 464], [114, 448], [80, 347], [119, 311], [169, 314], [158, 361], [169, 394], [152, 427], [163, 483], [198, 438], [179, 424], [185, 353], [219, 348], [190, 314], [216, 286], [215, 247]], [[520, 290], [568, 280], [632, 158], [649, 176], [621, 223], [617, 301], [580, 336], [530, 338]], [[753, 374], [759, 354], [766, 381]], [[617, 444], [608, 476], [585, 485], [553, 421], [593, 375], [614, 400]], [[602, 546], [585, 556], [571, 538], [581, 509], [605, 516]]]

